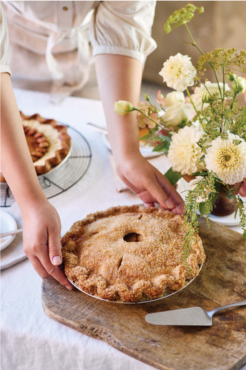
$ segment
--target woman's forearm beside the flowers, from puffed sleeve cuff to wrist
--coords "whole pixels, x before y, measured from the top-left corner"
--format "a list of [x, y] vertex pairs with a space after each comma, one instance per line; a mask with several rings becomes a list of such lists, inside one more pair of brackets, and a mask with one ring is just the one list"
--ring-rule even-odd
[[138, 106], [142, 65], [123, 55], [99, 54], [95, 57], [100, 96], [105, 111], [110, 145], [116, 165], [128, 155], [139, 152], [137, 112], [120, 116], [113, 111], [118, 100]]

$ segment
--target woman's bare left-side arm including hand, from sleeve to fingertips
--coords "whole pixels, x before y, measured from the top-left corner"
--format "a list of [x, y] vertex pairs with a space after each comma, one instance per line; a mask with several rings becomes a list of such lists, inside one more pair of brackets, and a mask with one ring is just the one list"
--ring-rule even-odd
[[20, 207], [25, 254], [43, 279], [55, 278], [71, 290], [58, 267], [61, 221], [38, 182], [8, 73], [1, 73], [1, 172]]

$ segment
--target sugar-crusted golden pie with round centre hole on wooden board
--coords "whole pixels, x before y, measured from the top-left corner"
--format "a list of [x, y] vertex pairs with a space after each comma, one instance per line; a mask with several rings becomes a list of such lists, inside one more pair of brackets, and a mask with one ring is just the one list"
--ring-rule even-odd
[[185, 266], [181, 216], [160, 208], [118, 206], [75, 222], [61, 239], [64, 270], [84, 292], [139, 302], [184, 287], [205, 260], [195, 233]]

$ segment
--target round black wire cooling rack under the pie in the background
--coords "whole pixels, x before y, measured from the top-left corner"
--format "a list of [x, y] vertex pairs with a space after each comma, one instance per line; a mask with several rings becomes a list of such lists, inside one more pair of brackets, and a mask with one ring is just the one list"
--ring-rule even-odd
[[[58, 122], [64, 125], [61, 122]], [[69, 158], [59, 168], [51, 173], [47, 172], [40, 176], [42, 191], [49, 199], [52, 196], [63, 193], [78, 182], [89, 168], [92, 153], [86, 138], [75, 128], [67, 126], [67, 132], [71, 136], [72, 151]], [[1, 183], [1, 207], [10, 207], [15, 202], [7, 183]]]

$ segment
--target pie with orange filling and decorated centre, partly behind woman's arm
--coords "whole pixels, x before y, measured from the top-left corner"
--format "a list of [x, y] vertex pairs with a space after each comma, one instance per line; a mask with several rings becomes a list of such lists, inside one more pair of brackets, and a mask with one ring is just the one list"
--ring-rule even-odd
[[[38, 175], [48, 172], [52, 166], [61, 163], [71, 146], [66, 126], [55, 120], [46, 120], [39, 114], [26, 116], [20, 112], [28, 149]], [[1, 174], [1, 182], [5, 182]]]

